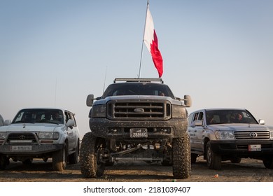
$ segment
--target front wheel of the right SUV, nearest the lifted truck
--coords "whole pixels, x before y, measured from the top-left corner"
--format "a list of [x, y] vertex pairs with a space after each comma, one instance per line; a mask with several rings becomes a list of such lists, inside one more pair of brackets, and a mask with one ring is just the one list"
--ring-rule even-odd
[[218, 155], [211, 150], [211, 141], [208, 141], [207, 143], [206, 156], [209, 169], [221, 169], [221, 155]]

